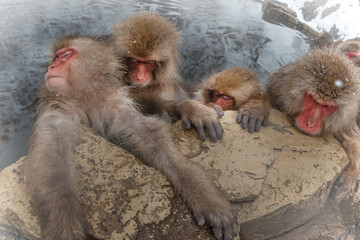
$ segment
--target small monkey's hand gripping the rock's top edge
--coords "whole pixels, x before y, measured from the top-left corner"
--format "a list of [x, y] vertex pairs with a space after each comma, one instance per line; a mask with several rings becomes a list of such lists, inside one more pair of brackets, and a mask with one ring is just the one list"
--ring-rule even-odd
[[267, 125], [269, 111], [270, 108], [268, 107], [254, 107], [252, 102], [247, 102], [241, 105], [236, 121], [241, 123], [242, 128], [248, 129], [250, 133], [257, 132], [261, 125]]

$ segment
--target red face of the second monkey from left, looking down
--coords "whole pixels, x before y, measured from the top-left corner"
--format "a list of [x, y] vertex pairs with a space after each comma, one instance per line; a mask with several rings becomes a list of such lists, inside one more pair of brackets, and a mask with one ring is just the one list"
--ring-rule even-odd
[[128, 58], [130, 77], [135, 85], [146, 86], [153, 78], [158, 61], [144, 58]]

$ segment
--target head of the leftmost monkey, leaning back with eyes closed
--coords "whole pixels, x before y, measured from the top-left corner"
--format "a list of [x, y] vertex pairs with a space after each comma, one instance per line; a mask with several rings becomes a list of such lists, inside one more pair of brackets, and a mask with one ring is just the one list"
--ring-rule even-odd
[[[108, 87], [121, 65], [103, 43], [90, 37], [67, 36], [53, 46], [53, 62], [45, 74], [46, 91], [68, 95], [85, 91], [96, 92], [96, 88]], [[105, 52], [104, 52], [105, 51]], [[84, 64], [84, 63], [87, 64]]]

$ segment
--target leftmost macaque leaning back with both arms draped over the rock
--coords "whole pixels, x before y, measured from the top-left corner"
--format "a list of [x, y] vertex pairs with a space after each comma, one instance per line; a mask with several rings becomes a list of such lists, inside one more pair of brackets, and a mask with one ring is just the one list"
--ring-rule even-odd
[[231, 204], [205, 172], [181, 154], [168, 124], [144, 116], [119, 81], [125, 67], [112, 46], [90, 37], [64, 37], [41, 88], [37, 120], [24, 162], [32, 205], [44, 239], [84, 239], [80, 193], [73, 159], [79, 124], [124, 146], [145, 164], [161, 170], [218, 239], [237, 234]]

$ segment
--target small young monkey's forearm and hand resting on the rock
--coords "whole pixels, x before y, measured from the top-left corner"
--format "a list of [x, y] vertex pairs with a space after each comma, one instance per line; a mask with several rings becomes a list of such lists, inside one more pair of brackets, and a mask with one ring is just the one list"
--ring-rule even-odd
[[256, 94], [240, 105], [236, 121], [241, 123], [242, 128], [247, 128], [250, 133], [257, 132], [261, 125], [267, 125], [270, 108], [268, 95], [266, 93]]

